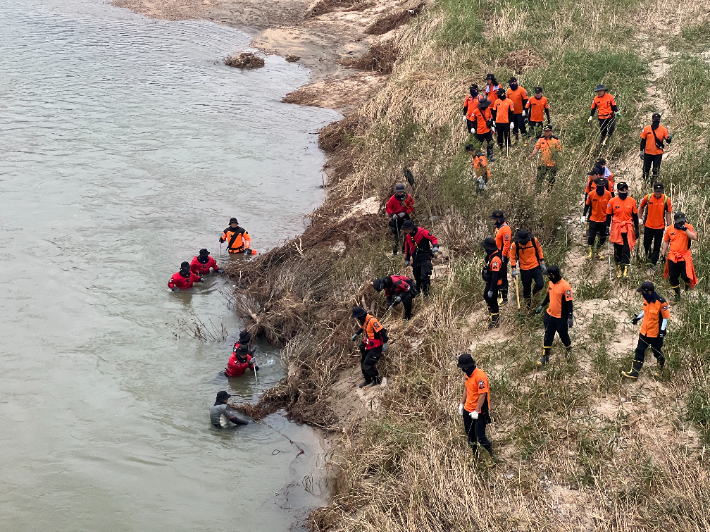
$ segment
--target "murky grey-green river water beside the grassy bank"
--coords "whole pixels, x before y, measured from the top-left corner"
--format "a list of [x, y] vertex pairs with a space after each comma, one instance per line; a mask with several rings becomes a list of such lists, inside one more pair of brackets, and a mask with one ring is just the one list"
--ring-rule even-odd
[[297, 65], [222, 65], [248, 46], [230, 28], [100, 0], [2, 0], [0, 28], [0, 530], [288, 530], [322, 502], [312, 431], [208, 421], [220, 389], [278, 381], [279, 354], [227, 383], [227, 282], [167, 281], [202, 247], [219, 259], [231, 216], [259, 251], [300, 232], [322, 199], [313, 133], [338, 115], [280, 103]]

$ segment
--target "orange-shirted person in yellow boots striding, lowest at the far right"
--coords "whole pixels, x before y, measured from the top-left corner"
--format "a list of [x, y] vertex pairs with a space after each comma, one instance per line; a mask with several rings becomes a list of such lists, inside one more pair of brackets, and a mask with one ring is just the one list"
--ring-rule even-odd
[[636, 353], [634, 354], [631, 369], [622, 371], [621, 374], [629, 379], [638, 379], [646, 358], [646, 349], [650, 347], [657, 362], [656, 371], [653, 375], [658, 378], [663, 375], [663, 367], [666, 365], [666, 358], [663, 356], [663, 339], [666, 337], [666, 328], [668, 320], [671, 319], [671, 313], [668, 303], [656, 293], [651, 281], [641, 283], [636, 292], [640, 292], [643, 296], [643, 310], [631, 320], [631, 323], [636, 325], [641, 320], [643, 322], [641, 323], [639, 341], [636, 344]]

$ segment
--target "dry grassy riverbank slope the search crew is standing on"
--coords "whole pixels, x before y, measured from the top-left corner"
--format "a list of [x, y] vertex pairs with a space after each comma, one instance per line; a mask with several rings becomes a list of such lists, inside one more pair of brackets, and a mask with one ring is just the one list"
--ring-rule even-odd
[[[250, 295], [240, 299], [242, 311], [255, 314], [256, 329], [286, 344], [296, 368], [264, 406], [286, 406], [298, 419], [344, 429], [347, 436], [333, 503], [314, 513], [314, 528], [710, 527], [710, 135], [708, 124], [698, 121], [709, 103], [710, 71], [702, 55], [710, 49], [707, 12], [702, 3], [640, 0], [440, 0], [398, 38], [401, 56], [387, 85], [331, 131], [339, 140], [331, 144], [339, 144], [334, 177], [312, 227], [243, 272]], [[533, 50], [538, 64], [516, 64], [522, 49]], [[534, 166], [524, 158], [530, 148], [520, 146], [493, 164], [490, 193], [475, 194], [460, 105], [468, 85], [481, 84], [489, 71], [501, 81], [515, 72], [529, 91], [545, 88], [565, 147], [549, 197], [531, 194]], [[591, 89], [599, 82], [610, 87], [623, 113], [603, 153], [586, 124]], [[663, 181], [673, 186], [676, 209], [700, 229], [694, 260], [702, 280], [696, 294], [672, 308], [669, 375], [656, 382], [645, 371], [638, 382], [624, 383], [619, 370], [630, 363], [636, 337], [625, 323], [639, 306], [633, 289], [647, 274], [638, 264], [628, 283], [610, 280], [606, 262], [584, 259], [572, 220], [581, 214], [586, 170], [600, 154], [617, 181], [630, 182], [632, 196], [647, 193], [639, 179], [638, 131], [651, 112], [666, 107], [676, 156], [664, 163]], [[379, 397], [378, 415], [343, 426], [332, 388], [356, 360], [347, 341], [349, 308], [364, 298], [381, 315], [383, 301], [366, 282], [405, 270], [385, 257], [384, 218], [341, 216], [363, 198], [386, 200], [403, 166], [417, 177], [421, 225], [448, 253], [434, 296], [418, 303], [415, 319], [386, 320], [397, 340], [381, 363], [391, 384]], [[497, 208], [514, 228], [531, 228], [540, 237], [548, 264], [560, 264], [576, 291], [569, 363], [557, 358], [557, 344], [554, 364], [537, 371], [541, 321], [517, 315], [512, 306], [501, 328], [485, 333], [478, 243], [491, 233], [487, 217]], [[331, 251], [337, 241], [345, 243], [344, 252]], [[654, 280], [669, 296], [659, 274]], [[462, 389], [455, 360], [467, 349], [491, 378], [489, 437], [502, 459], [492, 471], [471, 466], [455, 413]]]

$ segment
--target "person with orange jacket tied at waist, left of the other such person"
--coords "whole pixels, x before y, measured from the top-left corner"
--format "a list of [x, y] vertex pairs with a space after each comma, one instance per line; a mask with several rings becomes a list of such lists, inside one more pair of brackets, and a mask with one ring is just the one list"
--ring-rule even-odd
[[621, 279], [629, 276], [631, 250], [639, 237], [639, 215], [636, 200], [629, 196], [629, 185], [622, 181], [616, 190], [618, 196], [611, 198], [606, 207], [606, 222], [609, 242], [614, 244], [616, 276]]

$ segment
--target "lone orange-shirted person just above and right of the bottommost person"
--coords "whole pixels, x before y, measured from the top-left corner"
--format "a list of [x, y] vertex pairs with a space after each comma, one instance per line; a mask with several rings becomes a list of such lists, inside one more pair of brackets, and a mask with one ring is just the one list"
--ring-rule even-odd
[[557, 266], [550, 266], [547, 269], [547, 276], [550, 278], [550, 282], [547, 283], [547, 295], [542, 305], [535, 309], [535, 314], [540, 314], [545, 305], [549, 304], [542, 319], [545, 325], [545, 337], [542, 341], [542, 358], [537, 361], [538, 366], [545, 366], [550, 362], [555, 333], [559, 335], [565, 346], [565, 359], [572, 352], [572, 340], [569, 338], [569, 329], [574, 325], [572, 287], [562, 278]]

